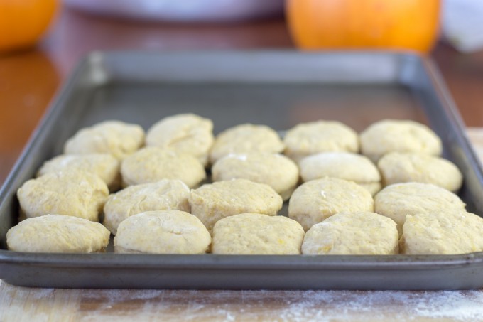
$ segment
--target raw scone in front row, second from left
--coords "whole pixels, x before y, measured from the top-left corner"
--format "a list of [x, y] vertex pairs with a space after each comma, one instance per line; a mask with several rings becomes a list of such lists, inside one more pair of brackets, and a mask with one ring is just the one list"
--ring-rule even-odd
[[198, 218], [180, 210], [146, 211], [121, 222], [114, 251], [145, 254], [205, 254], [211, 236]]

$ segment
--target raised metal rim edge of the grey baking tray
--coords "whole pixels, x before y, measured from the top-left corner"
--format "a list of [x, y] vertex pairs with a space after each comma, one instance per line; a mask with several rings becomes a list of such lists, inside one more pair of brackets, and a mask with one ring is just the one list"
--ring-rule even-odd
[[[168, 52], [153, 52], [153, 51], [137, 51], [137, 50], [121, 50], [121, 51], [107, 51], [107, 52], [93, 52], [89, 53], [85, 58], [82, 58], [77, 66], [67, 78], [67, 81], [58, 89], [53, 100], [51, 100], [48, 109], [38, 123], [38, 126], [31, 134], [26, 146], [18, 157], [13, 166], [9, 176], [7, 176], [4, 184], [0, 188], [0, 203], [6, 198], [7, 192], [11, 182], [21, 170], [23, 163], [26, 160], [28, 151], [41, 139], [41, 136], [47, 131], [52, 122], [53, 115], [60, 113], [63, 109], [63, 104], [71, 95], [72, 90], [80, 80], [80, 75], [85, 72], [86, 66], [92, 60], [99, 60], [104, 55], [119, 55], [119, 54], [134, 54], [134, 55], [163, 55], [168, 53], [174, 55], [176, 53], [189, 53], [196, 55], [197, 51], [186, 52], [184, 50], [175, 50]], [[227, 54], [231, 53], [287, 53], [290, 55], [305, 55], [305, 53], [297, 53], [293, 50], [206, 50], [202, 53], [208, 54]], [[424, 66], [433, 87], [437, 91], [438, 99], [445, 107], [448, 117], [452, 119], [458, 126], [458, 135], [461, 142], [464, 142], [462, 149], [465, 154], [479, 165], [477, 172], [481, 181], [483, 181], [482, 166], [474, 154], [470, 146], [467, 134], [463, 129], [464, 123], [457, 112], [457, 107], [450, 97], [445, 83], [442, 80], [438, 68], [430, 60], [430, 58], [415, 55], [411, 52], [401, 52], [396, 50], [363, 50], [363, 51], [328, 51], [328, 52], [311, 52], [311, 55], [397, 55], [404, 58], [419, 60]], [[109, 80], [99, 79], [97, 85]], [[461, 131], [463, 130], [463, 131]], [[264, 259], [271, 258], [275, 262], [266, 262]], [[201, 259], [200, 259], [201, 258]], [[239, 261], [239, 259], [244, 259]], [[143, 260], [140, 260], [143, 259]], [[181, 260], [180, 260], [181, 259]], [[261, 262], [256, 262], [261, 259]], [[304, 262], [300, 262], [303, 259]], [[321, 260], [322, 259], [322, 260]], [[294, 261], [297, 262], [294, 262]], [[181, 263], [180, 263], [181, 262]], [[192, 264], [198, 266], [192, 268]], [[404, 269], [404, 270], [418, 270], [418, 269], [450, 269], [455, 267], [467, 267], [472, 264], [483, 264], [483, 252], [473, 252], [469, 254], [455, 254], [455, 255], [176, 255], [176, 254], [52, 254], [52, 253], [28, 253], [28, 252], [13, 252], [6, 249], [0, 249], [0, 264], [22, 264], [26, 266], [40, 266], [40, 267], [73, 267], [77, 269], [343, 269], [343, 270], [385, 270], [385, 269]], [[362, 264], [362, 265], [361, 265]], [[165, 266], [163, 266], [165, 265]], [[201, 267], [200, 267], [201, 265]], [[356, 267], [357, 266], [357, 267]], [[437, 266], [437, 267], [435, 267]], [[0, 271], [1, 274], [1, 271]]]

